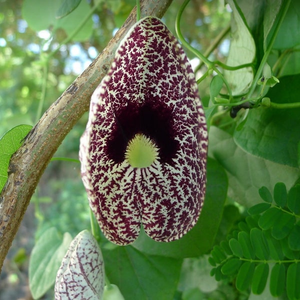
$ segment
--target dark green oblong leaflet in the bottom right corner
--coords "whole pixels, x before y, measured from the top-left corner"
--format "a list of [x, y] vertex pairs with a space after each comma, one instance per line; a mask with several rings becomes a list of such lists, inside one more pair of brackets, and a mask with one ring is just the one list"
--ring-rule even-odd
[[289, 299], [300, 299], [300, 263], [292, 263], [286, 272], [286, 293]]

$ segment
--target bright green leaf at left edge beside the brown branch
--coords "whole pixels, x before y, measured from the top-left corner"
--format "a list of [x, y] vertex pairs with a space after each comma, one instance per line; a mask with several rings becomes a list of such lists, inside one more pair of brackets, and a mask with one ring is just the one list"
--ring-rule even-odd
[[7, 169], [11, 155], [21, 146], [23, 138], [28, 134], [32, 126], [18, 125], [0, 138], [0, 192], [8, 178]]

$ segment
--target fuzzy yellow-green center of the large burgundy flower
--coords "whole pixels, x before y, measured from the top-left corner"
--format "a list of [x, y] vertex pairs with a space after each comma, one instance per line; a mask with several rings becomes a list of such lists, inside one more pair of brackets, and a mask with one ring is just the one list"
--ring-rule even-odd
[[155, 143], [145, 135], [137, 133], [128, 142], [125, 159], [132, 167], [147, 167], [158, 156], [158, 148]]

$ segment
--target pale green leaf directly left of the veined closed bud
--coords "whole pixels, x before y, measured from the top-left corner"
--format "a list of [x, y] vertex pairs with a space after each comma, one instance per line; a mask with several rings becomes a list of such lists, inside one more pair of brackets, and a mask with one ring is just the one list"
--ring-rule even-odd
[[29, 286], [34, 299], [41, 297], [55, 282], [57, 270], [72, 240], [65, 232], [63, 238], [54, 227], [46, 230], [34, 245], [29, 260]]

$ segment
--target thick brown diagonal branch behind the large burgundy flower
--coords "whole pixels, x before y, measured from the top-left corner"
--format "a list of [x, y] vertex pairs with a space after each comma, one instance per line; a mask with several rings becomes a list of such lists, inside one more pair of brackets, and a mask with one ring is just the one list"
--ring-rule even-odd
[[[172, 0], [142, 0], [141, 16], [161, 17]], [[38, 180], [61, 141], [88, 109], [93, 90], [106, 74], [119, 41], [136, 21], [134, 8], [106, 48], [46, 110], [9, 163], [0, 196], [0, 269]]]

